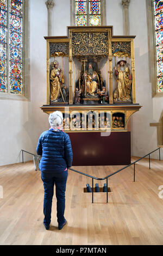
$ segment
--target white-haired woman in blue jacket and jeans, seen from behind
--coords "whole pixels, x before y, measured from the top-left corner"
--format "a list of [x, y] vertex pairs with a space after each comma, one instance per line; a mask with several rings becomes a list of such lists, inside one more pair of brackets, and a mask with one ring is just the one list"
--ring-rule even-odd
[[51, 223], [52, 199], [55, 193], [57, 197], [57, 221], [58, 229], [66, 224], [65, 191], [68, 168], [72, 166], [72, 147], [70, 137], [62, 130], [63, 115], [55, 111], [49, 115], [51, 128], [40, 135], [37, 145], [37, 154], [41, 155], [39, 168], [44, 186], [43, 224], [49, 229]]

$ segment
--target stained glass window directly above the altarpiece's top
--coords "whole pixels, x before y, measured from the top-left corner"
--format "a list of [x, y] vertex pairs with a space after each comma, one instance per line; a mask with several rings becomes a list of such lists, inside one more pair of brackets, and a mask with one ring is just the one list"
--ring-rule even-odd
[[101, 25], [101, 1], [100, 0], [76, 0], [76, 26], [100, 26]]

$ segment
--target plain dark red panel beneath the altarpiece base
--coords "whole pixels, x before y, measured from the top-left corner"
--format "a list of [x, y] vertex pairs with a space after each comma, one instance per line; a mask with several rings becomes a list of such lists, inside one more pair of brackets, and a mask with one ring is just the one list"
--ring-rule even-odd
[[73, 166], [127, 165], [131, 162], [130, 132], [68, 133], [73, 149]]

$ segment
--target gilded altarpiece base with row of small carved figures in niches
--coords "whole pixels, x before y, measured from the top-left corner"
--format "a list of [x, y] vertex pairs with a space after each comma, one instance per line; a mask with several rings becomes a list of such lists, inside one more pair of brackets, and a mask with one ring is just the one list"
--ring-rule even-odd
[[139, 111], [139, 104], [70, 106], [43, 105], [43, 112], [50, 114], [61, 111], [64, 116], [64, 131], [74, 132], [115, 132], [128, 131], [128, 121], [132, 114]]

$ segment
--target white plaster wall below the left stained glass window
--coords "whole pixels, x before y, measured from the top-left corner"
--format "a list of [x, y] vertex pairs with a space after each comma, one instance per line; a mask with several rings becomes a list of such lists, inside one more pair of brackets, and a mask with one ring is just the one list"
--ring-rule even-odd
[[21, 161], [20, 150], [32, 148], [24, 124], [28, 122], [28, 102], [0, 100], [0, 165]]

